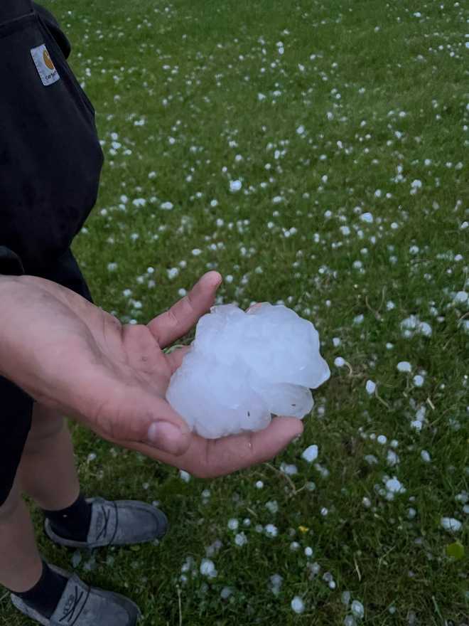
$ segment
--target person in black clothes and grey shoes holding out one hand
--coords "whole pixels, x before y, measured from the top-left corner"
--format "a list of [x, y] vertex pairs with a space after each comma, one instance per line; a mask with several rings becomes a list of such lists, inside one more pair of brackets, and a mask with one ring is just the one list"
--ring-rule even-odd
[[43, 625], [133, 626], [136, 604], [49, 565], [36, 546], [22, 493], [61, 546], [122, 546], [167, 529], [143, 502], [83, 497], [63, 415], [200, 477], [273, 457], [302, 425], [278, 418], [217, 441], [190, 433], [165, 399], [185, 349], [163, 348], [210, 309], [221, 277], [208, 272], [147, 326], [92, 304], [70, 244], [95, 204], [103, 156], [70, 44], [43, 7], [1, 0], [0, 53], [0, 584]]

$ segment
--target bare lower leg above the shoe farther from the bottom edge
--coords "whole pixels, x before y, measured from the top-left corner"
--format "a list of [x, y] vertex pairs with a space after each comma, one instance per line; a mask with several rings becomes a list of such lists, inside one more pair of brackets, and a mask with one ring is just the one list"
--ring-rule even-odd
[[80, 495], [72, 439], [65, 420], [37, 403], [18, 479], [21, 489], [48, 511], [66, 509]]

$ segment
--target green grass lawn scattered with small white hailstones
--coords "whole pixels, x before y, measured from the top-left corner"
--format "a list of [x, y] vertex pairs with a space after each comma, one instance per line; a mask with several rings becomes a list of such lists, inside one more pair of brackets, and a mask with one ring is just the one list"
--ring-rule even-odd
[[[97, 206], [74, 245], [95, 301], [124, 321], [146, 322], [216, 268], [233, 277], [220, 302], [283, 300], [311, 319], [333, 372], [316, 392], [301, 440], [271, 465], [210, 483], [186, 484], [177, 470], [74, 427], [87, 494], [158, 500], [171, 521], [159, 546], [99, 551], [92, 571], [84, 555], [77, 573], [133, 598], [144, 626], [341, 625], [350, 614], [345, 590], [363, 603], [367, 625], [468, 624], [468, 516], [456, 499], [469, 491], [468, 305], [454, 302], [469, 286], [469, 230], [461, 228], [469, 219], [463, 2], [45, 4], [72, 41], [70, 63], [105, 142]], [[114, 155], [113, 132], [122, 144]], [[242, 180], [242, 190], [230, 193], [230, 179]], [[422, 186], [412, 194], [415, 180]], [[274, 204], [276, 196], [282, 201]], [[134, 206], [135, 198], [145, 206]], [[166, 201], [171, 211], [161, 209]], [[360, 221], [367, 211], [372, 223]], [[180, 269], [173, 280], [171, 267]], [[360, 314], [362, 324], [354, 324]], [[411, 314], [431, 324], [430, 337], [402, 335]], [[337, 356], [350, 371], [333, 366]], [[397, 371], [399, 361], [411, 363], [411, 375]], [[419, 388], [413, 376], [421, 371]], [[368, 379], [379, 398], [366, 393]], [[417, 432], [410, 423], [421, 406], [426, 421]], [[389, 467], [392, 440], [399, 463]], [[301, 459], [311, 443], [327, 477]], [[87, 460], [91, 452], [95, 460]], [[282, 462], [298, 473], [287, 479]], [[388, 501], [379, 490], [393, 476], [406, 492]], [[269, 501], [278, 503], [275, 514]], [[459, 561], [446, 556], [455, 537], [442, 516], [463, 522]], [[242, 547], [227, 528], [232, 518], [247, 536]], [[275, 524], [278, 535], [258, 533], [257, 524]], [[218, 575], [208, 580], [198, 568], [217, 539]], [[72, 568], [71, 553], [40, 542], [46, 558]], [[188, 556], [195, 573], [184, 583]], [[335, 589], [323, 580], [328, 572]], [[274, 573], [284, 579], [278, 595]], [[228, 600], [220, 598], [225, 586]], [[305, 603], [302, 615], [291, 610], [295, 595]], [[6, 596], [1, 620], [30, 623]]]

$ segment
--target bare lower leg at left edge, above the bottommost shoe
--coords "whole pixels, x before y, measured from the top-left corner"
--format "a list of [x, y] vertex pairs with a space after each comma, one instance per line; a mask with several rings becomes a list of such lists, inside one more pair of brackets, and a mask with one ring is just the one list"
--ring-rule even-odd
[[0, 506], [0, 583], [23, 593], [36, 585], [42, 571], [31, 516], [16, 483]]

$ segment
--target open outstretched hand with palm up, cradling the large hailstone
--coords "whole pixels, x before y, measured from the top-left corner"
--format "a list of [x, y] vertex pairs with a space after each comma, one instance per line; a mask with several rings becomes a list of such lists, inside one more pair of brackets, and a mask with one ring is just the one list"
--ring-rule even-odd
[[54, 282], [0, 277], [0, 373], [104, 439], [199, 476], [267, 460], [302, 432], [299, 420], [277, 418], [259, 433], [204, 440], [165, 398], [184, 350], [163, 348], [210, 309], [220, 282], [208, 272], [147, 326], [122, 326]]

